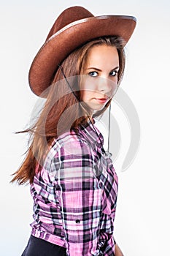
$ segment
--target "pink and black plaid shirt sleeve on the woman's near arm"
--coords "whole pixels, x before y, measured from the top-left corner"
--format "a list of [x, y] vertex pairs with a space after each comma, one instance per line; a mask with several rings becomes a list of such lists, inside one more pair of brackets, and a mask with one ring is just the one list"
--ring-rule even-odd
[[67, 140], [53, 158], [55, 191], [61, 206], [67, 255], [98, 255], [101, 189], [88, 143]]

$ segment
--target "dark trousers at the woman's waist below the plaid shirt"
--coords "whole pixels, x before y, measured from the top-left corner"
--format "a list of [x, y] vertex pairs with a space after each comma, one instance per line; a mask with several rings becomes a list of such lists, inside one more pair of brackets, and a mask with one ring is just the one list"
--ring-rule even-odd
[[66, 248], [30, 236], [28, 245], [21, 256], [66, 256]]

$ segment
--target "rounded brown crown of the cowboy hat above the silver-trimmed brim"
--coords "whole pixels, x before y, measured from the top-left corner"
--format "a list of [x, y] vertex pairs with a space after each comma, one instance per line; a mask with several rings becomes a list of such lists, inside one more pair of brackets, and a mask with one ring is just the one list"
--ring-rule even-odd
[[[81, 20], [83, 18], [94, 17], [91, 12], [86, 10], [84, 7], [69, 7], [68, 9], [61, 12], [61, 15], [58, 16], [57, 20], [53, 24], [53, 27], [50, 29], [47, 39], [53, 36], [56, 32], [63, 29], [64, 26], [72, 23], [76, 20]], [[46, 41], [47, 41], [46, 39]]]

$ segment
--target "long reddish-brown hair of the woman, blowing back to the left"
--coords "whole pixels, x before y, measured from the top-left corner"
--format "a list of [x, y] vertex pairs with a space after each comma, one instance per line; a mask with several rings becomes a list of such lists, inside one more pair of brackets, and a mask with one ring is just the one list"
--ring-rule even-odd
[[[22, 165], [13, 174], [14, 178], [11, 182], [18, 181], [18, 184], [25, 184], [29, 181], [33, 183], [34, 176], [42, 169], [43, 161], [53, 141], [64, 132], [77, 131], [80, 124], [85, 124], [88, 121], [88, 114], [81, 108], [79, 102], [81, 97], [79, 75], [83, 74], [89, 50], [94, 45], [103, 44], [117, 48], [120, 65], [118, 85], [120, 84], [125, 68], [124, 42], [120, 37], [93, 39], [70, 53], [60, 67], [57, 67], [51, 86], [45, 91], [47, 99], [39, 118], [34, 125], [22, 131], [28, 132], [30, 135], [30, 146]], [[63, 75], [66, 79], [63, 78]], [[96, 116], [100, 116], [104, 110], [98, 111]]]

